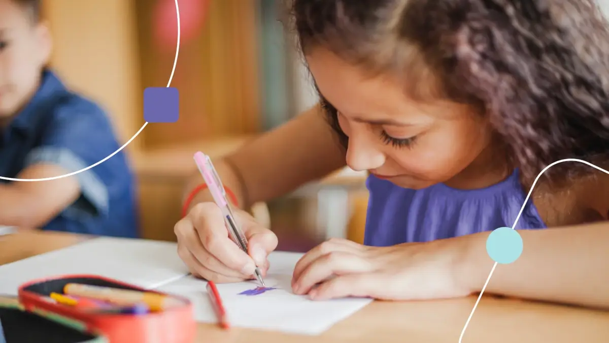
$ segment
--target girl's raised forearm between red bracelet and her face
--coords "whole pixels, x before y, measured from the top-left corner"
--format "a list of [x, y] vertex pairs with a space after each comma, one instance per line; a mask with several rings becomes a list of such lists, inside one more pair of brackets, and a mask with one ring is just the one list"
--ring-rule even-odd
[[[235, 193], [244, 209], [322, 178], [345, 164], [345, 152], [319, 106], [214, 161], [222, 183]], [[202, 176], [194, 175], [184, 199], [202, 182]], [[189, 208], [211, 200], [209, 192], [200, 192]]]

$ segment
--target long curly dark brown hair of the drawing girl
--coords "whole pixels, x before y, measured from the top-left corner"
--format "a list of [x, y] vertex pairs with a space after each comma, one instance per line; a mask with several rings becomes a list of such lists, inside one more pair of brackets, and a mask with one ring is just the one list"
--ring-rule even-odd
[[[609, 30], [594, 0], [291, 0], [289, 8], [304, 54], [323, 46], [372, 73], [407, 75], [409, 96], [480, 109], [526, 179], [560, 159], [608, 161]], [[320, 97], [346, 143], [336, 109]], [[591, 171], [558, 164], [544, 175]]]

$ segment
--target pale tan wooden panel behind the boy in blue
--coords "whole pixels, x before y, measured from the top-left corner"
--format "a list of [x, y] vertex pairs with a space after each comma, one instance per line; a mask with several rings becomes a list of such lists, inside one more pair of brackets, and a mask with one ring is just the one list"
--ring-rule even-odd
[[43, 16], [54, 41], [49, 64], [68, 87], [107, 110], [126, 142], [144, 125], [133, 2], [44, 0]]

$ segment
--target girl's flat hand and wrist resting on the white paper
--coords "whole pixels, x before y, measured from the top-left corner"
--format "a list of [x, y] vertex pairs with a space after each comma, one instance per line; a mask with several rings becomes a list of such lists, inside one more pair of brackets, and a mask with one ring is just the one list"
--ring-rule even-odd
[[295, 294], [309, 294], [313, 300], [465, 297], [473, 290], [459, 282], [463, 278], [457, 265], [464, 248], [460, 242], [457, 238], [367, 247], [350, 240], [331, 239], [298, 261], [292, 290]]

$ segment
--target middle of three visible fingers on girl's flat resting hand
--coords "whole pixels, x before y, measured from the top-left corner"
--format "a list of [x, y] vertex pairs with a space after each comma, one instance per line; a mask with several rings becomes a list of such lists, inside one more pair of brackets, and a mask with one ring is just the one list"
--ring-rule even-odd
[[294, 293], [307, 294], [315, 284], [322, 283], [334, 275], [370, 272], [370, 264], [353, 253], [333, 251], [312, 261], [294, 280]]

